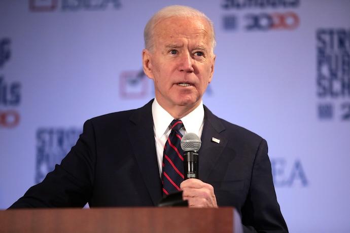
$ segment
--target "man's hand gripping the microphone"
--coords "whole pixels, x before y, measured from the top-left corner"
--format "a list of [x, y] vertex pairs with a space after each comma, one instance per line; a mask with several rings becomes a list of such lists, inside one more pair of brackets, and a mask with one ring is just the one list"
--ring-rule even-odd
[[198, 179], [187, 179], [180, 184], [183, 191], [183, 200], [188, 201], [189, 207], [214, 207], [218, 208], [214, 187]]

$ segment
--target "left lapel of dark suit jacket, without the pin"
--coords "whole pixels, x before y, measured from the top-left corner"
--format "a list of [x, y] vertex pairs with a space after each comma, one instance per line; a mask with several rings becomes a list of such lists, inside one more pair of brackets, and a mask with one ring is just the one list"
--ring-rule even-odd
[[142, 173], [147, 189], [155, 206], [162, 197], [161, 180], [154, 141], [152, 100], [131, 115], [134, 125], [128, 131], [128, 137], [135, 155], [139, 170]]

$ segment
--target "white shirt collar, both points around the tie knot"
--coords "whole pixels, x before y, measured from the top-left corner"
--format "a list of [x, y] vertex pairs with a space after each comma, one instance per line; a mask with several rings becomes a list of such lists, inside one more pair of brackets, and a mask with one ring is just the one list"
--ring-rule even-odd
[[[152, 115], [155, 134], [160, 138], [170, 129], [169, 125], [174, 118], [159, 105], [157, 99], [154, 99], [152, 103]], [[203, 101], [200, 101], [200, 104], [181, 120], [186, 129], [186, 133], [195, 133], [198, 135], [203, 119], [204, 107]]]

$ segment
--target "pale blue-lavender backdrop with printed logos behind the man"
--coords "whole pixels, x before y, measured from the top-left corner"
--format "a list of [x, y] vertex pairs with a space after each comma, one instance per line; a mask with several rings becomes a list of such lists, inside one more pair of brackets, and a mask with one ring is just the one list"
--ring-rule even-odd
[[60, 163], [86, 120], [154, 98], [143, 30], [173, 4], [213, 20], [203, 102], [267, 140], [290, 232], [348, 232], [348, 0], [1, 0], [0, 209]]

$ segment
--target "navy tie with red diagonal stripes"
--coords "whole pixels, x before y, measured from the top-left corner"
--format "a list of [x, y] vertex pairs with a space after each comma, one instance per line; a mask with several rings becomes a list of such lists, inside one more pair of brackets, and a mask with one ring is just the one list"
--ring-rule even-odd
[[171, 122], [171, 132], [164, 146], [163, 152], [163, 196], [180, 190], [180, 183], [184, 181], [184, 157], [180, 146], [183, 127], [181, 120]]

